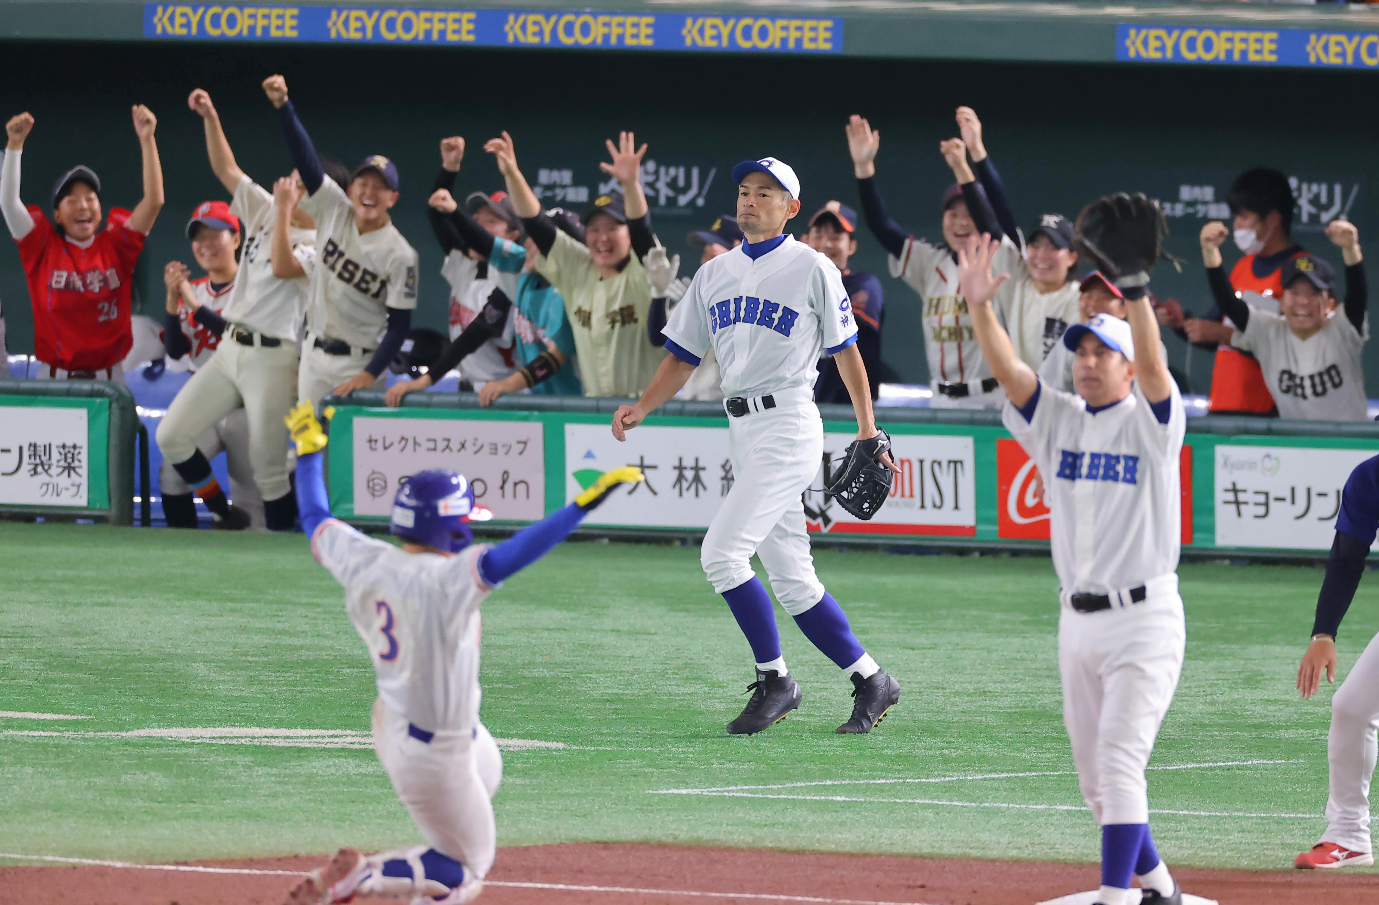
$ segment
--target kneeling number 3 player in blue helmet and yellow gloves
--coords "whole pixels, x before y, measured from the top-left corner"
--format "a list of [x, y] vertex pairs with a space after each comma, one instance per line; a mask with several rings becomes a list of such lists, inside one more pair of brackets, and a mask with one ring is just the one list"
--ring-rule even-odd
[[345, 586], [345, 608], [374, 661], [374, 748], [427, 846], [363, 857], [342, 848], [288, 902], [393, 898], [472, 902], [494, 864], [492, 796], [502, 756], [479, 722], [479, 606], [505, 578], [574, 531], [636, 468], [603, 475], [575, 502], [496, 546], [474, 545], [470, 520], [491, 513], [450, 470], [418, 472], [393, 501], [401, 548], [331, 517], [312, 403], [287, 418], [296, 443], [296, 493], [312, 553]]

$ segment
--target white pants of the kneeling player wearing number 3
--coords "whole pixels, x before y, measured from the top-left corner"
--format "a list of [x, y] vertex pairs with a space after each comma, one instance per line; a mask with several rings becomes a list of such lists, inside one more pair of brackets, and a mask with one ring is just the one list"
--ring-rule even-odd
[[483, 723], [440, 731], [429, 742], [407, 731], [407, 717], [374, 701], [374, 750], [422, 837], [483, 879], [494, 866], [498, 828], [494, 792], [503, 775], [498, 744]]

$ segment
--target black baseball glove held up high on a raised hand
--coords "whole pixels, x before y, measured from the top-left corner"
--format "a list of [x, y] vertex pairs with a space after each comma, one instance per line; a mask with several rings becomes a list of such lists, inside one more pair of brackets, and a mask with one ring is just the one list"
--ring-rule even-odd
[[1083, 208], [1073, 247], [1096, 262], [1125, 298], [1143, 298], [1167, 235], [1168, 222], [1157, 201], [1143, 192], [1117, 192]]

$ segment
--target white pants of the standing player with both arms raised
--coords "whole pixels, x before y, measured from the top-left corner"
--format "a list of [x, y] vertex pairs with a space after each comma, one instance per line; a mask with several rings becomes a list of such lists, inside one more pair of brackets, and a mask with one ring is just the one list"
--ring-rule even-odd
[[1183, 669], [1178, 577], [1146, 584], [1140, 603], [1078, 613], [1065, 601], [1058, 621], [1063, 726], [1100, 826], [1149, 822], [1145, 767]]

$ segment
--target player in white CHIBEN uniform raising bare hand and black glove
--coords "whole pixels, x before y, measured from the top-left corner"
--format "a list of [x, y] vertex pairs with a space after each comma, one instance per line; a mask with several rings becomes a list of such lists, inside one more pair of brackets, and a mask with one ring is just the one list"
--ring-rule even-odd
[[1102, 828], [1096, 901], [1176, 905], [1182, 894], [1149, 832], [1145, 781], [1186, 643], [1176, 574], [1185, 412], [1146, 298], [1162, 219], [1143, 195], [1114, 195], [1078, 215], [1077, 233], [1080, 251], [1116, 281], [1129, 313], [1128, 323], [1098, 315], [1063, 334], [1077, 352], [1077, 395], [1048, 386], [1016, 356], [992, 309], [1008, 275], [992, 275], [997, 246], [989, 237], [961, 252], [960, 284], [1005, 388], [1005, 426], [1045, 476], [1063, 724], [1083, 797]]

